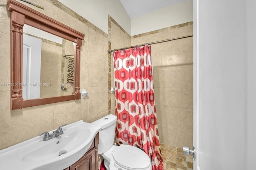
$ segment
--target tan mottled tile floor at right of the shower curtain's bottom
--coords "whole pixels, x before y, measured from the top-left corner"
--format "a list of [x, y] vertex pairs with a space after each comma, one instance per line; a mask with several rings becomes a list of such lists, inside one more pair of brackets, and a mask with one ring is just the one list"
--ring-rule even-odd
[[164, 159], [164, 170], [193, 170], [193, 156], [182, 153], [182, 148], [176, 148], [161, 143]]

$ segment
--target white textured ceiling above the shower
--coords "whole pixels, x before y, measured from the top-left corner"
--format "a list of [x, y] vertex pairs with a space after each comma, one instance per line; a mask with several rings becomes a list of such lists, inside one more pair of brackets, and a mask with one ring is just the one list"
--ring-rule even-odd
[[137, 18], [144, 14], [178, 4], [185, 0], [120, 0], [130, 18]]

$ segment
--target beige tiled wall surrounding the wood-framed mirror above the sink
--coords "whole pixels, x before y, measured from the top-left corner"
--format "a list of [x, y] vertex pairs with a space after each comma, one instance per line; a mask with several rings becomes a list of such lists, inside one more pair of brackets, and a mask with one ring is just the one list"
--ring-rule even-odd
[[[30, 2], [45, 10], [24, 4], [85, 34], [81, 48], [80, 89], [86, 89], [89, 95], [77, 101], [11, 111], [10, 87], [0, 86], [0, 149], [65, 123], [81, 119], [92, 122], [108, 114], [108, 35], [57, 0]], [[0, 18], [0, 83], [10, 83], [10, 13], [6, 0], [0, 0]]]

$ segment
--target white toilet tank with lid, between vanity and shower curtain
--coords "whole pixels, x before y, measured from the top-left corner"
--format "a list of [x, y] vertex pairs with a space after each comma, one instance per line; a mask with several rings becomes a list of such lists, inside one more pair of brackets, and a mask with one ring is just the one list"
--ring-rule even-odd
[[100, 143], [98, 145], [98, 154], [106, 152], [114, 144], [116, 120], [117, 117], [110, 114], [92, 122], [92, 124], [102, 127], [102, 129], [100, 130]]

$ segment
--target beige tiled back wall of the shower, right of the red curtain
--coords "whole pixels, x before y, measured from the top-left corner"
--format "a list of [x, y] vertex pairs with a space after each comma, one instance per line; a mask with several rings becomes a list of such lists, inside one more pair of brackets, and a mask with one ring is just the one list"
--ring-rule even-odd
[[[193, 22], [135, 35], [131, 45], [193, 34]], [[160, 141], [193, 146], [193, 37], [152, 45]]]

